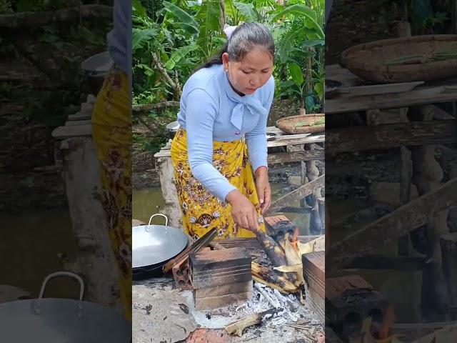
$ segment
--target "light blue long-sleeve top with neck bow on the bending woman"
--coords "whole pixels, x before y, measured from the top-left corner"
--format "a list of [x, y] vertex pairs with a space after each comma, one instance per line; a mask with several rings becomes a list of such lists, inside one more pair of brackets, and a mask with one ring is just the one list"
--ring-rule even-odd
[[183, 87], [179, 124], [186, 129], [194, 177], [222, 202], [236, 189], [213, 166], [213, 141], [243, 136], [253, 170], [267, 165], [266, 121], [274, 94], [273, 76], [251, 95], [233, 90], [223, 65], [196, 71]]

